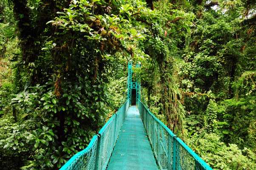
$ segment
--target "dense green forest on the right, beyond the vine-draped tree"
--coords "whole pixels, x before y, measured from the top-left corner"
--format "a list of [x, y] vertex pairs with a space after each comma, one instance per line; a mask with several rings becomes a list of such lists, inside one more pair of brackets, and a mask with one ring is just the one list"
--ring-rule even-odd
[[178, 66], [186, 140], [216, 169], [256, 167], [255, 14], [247, 15], [253, 6], [239, 0], [191, 3], [196, 19]]

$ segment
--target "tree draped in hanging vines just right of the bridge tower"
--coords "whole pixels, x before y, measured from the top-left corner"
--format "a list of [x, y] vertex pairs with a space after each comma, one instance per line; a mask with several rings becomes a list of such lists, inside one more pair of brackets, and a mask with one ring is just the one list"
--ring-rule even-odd
[[[193, 20], [193, 14], [185, 13], [182, 10], [171, 8], [168, 1], [157, 3], [154, 16], [147, 16], [144, 20], [145, 26], [151, 30], [148, 40], [145, 43], [145, 51], [152, 58], [147, 60], [158, 70], [162, 99], [162, 113], [166, 117], [168, 127], [174, 133], [183, 133], [185, 109], [182, 105], [182, 94], [179, 91], [176, 80], [175, 57], [179, 54], [179, 46], [189, 32], [189, 25]], [[164, 10], [163, 10], [164, 9]], [[147, 64], [146, 64], [147, 65]], [[143, 66], [143, 63], [142, 63]], [[151, 71], [145, 68], [145, 71]], [[148, 74], [148, 73], [146, 73]], [[152, 74], [151, 74], [152, 76]], [[143, 77], [143, 76], [142, 76]], [[152, 79], [142, 79], [151, 91]], [[149, 94], [150, 95], [150, 94]], [[149, 98], [149, 97], [148, 97]]]

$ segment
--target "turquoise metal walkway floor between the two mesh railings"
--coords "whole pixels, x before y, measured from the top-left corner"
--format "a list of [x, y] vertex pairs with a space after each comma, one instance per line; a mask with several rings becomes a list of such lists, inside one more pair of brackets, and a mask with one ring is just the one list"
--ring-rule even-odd
[[136, 106], [129, 107], [126, 113], [108, 170], [158, 170]]

